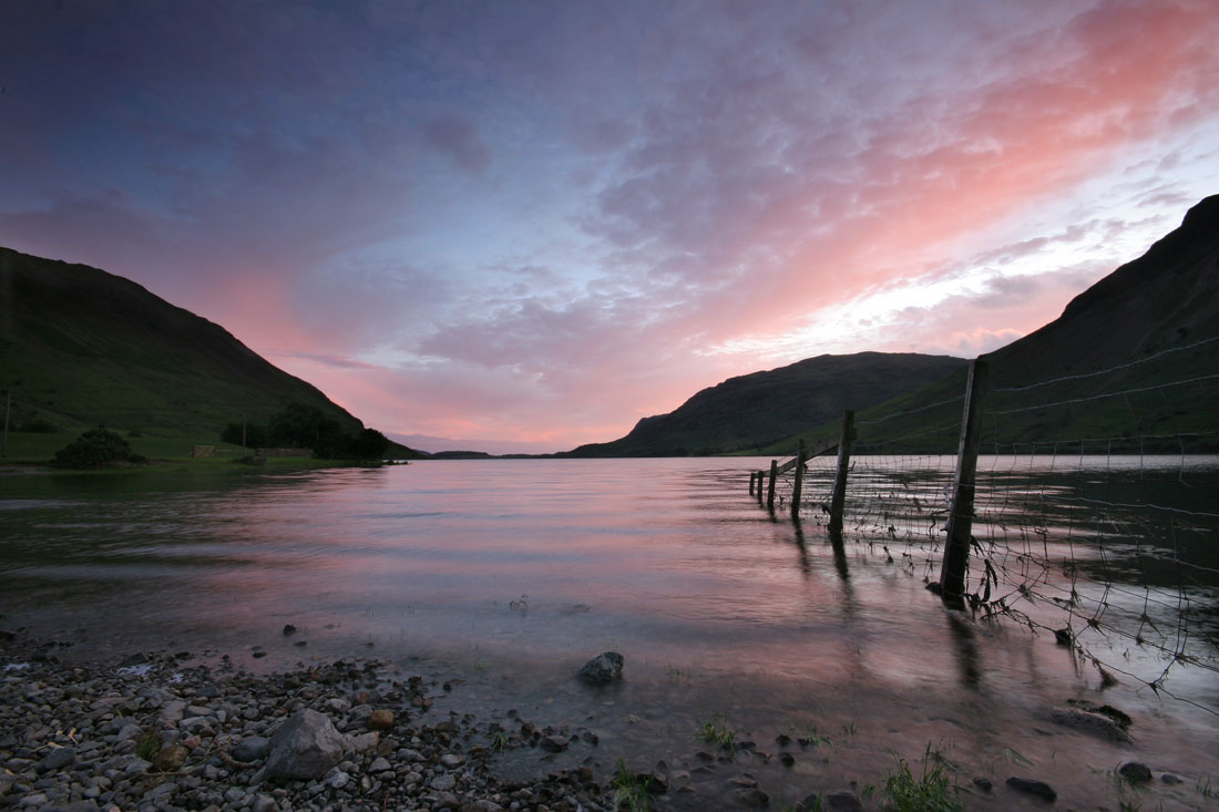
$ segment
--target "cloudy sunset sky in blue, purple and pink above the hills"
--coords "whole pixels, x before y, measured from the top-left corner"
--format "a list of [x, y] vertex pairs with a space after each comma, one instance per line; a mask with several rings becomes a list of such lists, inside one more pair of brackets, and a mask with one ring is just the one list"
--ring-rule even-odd
[[1219, 191], [1215, 43], [1213, 0], [0, 0], [0, 245], [416, 447], [558, 451], [1057, 318]]

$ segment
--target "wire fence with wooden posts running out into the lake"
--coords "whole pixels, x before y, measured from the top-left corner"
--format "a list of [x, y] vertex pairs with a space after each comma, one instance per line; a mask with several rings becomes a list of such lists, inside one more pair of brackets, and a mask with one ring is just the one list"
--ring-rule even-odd
[[[1131, 376], [1189, 351], [1206, 361], [1191, 372], [1219, 368], [1217, 350], [1208, 339], [1018, 386], [989, 388], [974, 362], [958, 396], [847, 412], [836, 439], [755, 472], [750, 490], [952, 605], [1052, 634], [1102, 686], [1185, 699], [1170, 675], [1201, 669], [1208, 696], [1185, 701], [1219, 714], [1219, 457], [1196, 455], [1219, 436], [1219, 374]], [[1095, 430], [1037, 436], [1056, 424]], [[953, 440], [956, 455], [917, 452]]]

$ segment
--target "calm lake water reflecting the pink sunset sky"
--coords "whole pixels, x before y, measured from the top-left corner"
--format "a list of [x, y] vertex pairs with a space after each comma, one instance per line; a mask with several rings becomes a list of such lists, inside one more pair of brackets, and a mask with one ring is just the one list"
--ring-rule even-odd
[[[769, 750], [784, 730], [834, 732], [824, 760], [750, 766], [775, 802], [848, 780], [883, 784], [886, 749], [914, 757], [928, 743], [1000, 784], [1011, 769], [1002, 753], [1017, 750], [1036, 763], [1025, 772], [1079, 784], [1080, 802], [1097, 792], [1081, 771], [1136, 756], [1219, 782], [1210, 667], [1174, 666], [1164, 683], [1196, 705], [1130, 678], [1102, 696], [1095, 668], [1052, 635], [946, 612], [926, 593], [951, 460], [857, 463], [837, 549], [818, 525], [828, 472], [814, 466], [814, 504], [797, 528], [748, 496], [747, 472], [761, 467], [435, 461], [279, 477], [9, 477], [0, 611], [10, 628], [93, 649], [223, 651], [251, 668], [422, 657], [464, 680], [453, 707], [533, 708], [542, 724], [597, 727], [602, 766], [692, 752], [690, 733], [712, 713]], [[1057, 540], [1075, 558], [1080, 594], [1112, 601], [1109, 618], [1142, 601], [1163, 622], [1176, 614], [1165, 602], [1185, 595], [1186, 651], [1214, 664], [1214, 458], [996, 458], [980, 469], [995, 488], [976, 533], [1014, 550], [1013, 572], [1020, 545], [1048, 551]], [[1123, 507], [1139, 502], [1191, 512]], [[1058, 571], [1039, 578], [1041, 593], [1072, 585]], [[1025, 608], [1057, 622], [1050, 601]], [[285, 623], [297, 635], [285, 639]], [[252, 660], [255, 649], [269, 656]], [[607, 649], [627, 657], [620, 686], [590, 693], [570, 679]], [[1102, 654], [1131, 674], [1164, 664], [1120, 635]], [[1136, 745], [1154, 755], [1086, 736], [1081, 745], [1041, 721], [1068, 697], [1123, 706], [1140, 721]], [[1047, 729], [1057, 755], [1039, 756]], [[1167, 801], [1190, 808], [1185, 795]]]

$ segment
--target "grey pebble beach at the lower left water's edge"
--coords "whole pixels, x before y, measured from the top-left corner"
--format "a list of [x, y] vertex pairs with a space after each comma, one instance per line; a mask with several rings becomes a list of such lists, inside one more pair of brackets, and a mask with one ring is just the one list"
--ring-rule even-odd
[[[0, 632], [0, 806], [87, 810], [613, 808], [588, 767], [513, 780], [512, 749], [591, 749], [596, 734], [511, 727], [450, 712], [450, 686], [345, 658], [255, 675], [190, 652], [61, 662], [65, 644]], [[268, 775], [274, 733], [302, 712], [340, 736], [341, 756], [297, 778]], [[273, 772], [273, 771], [272, 771]], [[310, 773], [307, 777], [305, 773]]]

